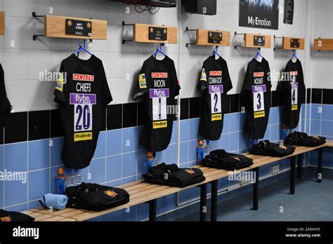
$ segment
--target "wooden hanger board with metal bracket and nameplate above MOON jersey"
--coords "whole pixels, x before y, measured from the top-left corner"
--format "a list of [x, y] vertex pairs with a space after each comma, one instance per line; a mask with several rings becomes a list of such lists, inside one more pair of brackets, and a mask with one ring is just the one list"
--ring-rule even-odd
[[164, 25], [145, 25], [145, 24], [126, 24], [122, 22], [122, 26], [133, 27], [133, 38], [124, 39], [122, 43], [126, 41], [135, 41], [141, 43], [178, 43], [178, 28], [167, 27]]

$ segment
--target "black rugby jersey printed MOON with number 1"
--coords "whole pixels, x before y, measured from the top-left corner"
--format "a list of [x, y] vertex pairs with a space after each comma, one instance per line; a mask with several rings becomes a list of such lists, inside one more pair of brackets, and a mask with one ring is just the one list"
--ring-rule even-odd
[[150, 56], [143, 62], [133, 100], [143, 96], [146, 120], [141, 145], [148, 151], [163, 151], [169, 146], [180, 89], [174, 61], [168, 56], [163, 60]]

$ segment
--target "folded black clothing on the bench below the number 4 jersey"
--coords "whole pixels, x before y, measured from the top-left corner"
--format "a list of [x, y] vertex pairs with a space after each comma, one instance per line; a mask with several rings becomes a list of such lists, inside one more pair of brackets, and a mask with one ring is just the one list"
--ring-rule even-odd
[[285, 144], [291, 144], [303, 147], [318, 147], [325, 144], [326, 137], [308, 136], [306, 133], [294, 131], [285, 138]]

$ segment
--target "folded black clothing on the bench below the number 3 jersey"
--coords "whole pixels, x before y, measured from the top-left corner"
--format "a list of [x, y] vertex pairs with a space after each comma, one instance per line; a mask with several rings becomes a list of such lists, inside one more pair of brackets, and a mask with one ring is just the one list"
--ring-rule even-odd
[[280, 145], [270, 142], [269, 140], [263, 140], [254, 144], [249, 153], [263, 156], [283, 157], [293, 154], [294, 151], [295, 147], [292, 147], [292, 145]]

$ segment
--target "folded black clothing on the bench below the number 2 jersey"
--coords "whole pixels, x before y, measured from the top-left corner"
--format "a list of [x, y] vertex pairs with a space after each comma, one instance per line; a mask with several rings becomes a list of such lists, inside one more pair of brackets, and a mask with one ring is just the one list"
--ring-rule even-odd
[[202, 165], [209, 168], [218, 168], [222, 170], [240, 170], [253, 164], [251, 158], [242, 154], [227, 153], [223, 149], [211, 151], [204, 157]]

